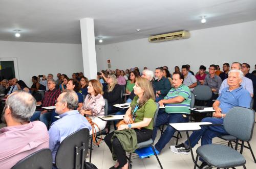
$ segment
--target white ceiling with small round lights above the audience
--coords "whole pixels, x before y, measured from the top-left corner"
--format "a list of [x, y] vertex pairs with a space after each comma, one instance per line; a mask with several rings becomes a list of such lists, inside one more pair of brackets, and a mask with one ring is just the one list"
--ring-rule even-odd
[[[79, 19], [85, 17], [94, 18], [96, 39], [110, 44], [256, 20], [256, 1], [1, 0], [0, 40], [81, 43]], [[22, 30], [20, 38], [15, 29]]]

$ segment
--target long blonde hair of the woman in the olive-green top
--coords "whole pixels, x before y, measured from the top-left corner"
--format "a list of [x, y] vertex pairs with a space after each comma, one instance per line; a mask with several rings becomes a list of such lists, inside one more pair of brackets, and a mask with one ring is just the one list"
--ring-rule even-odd
[[156, 100], [152, 84], [149, 80], [138, 77], [136, 78], [136, 83], [142, 90], [144, 90], [143, 99], [139, 101], [139, 107], [143, 106], [149, 99]]

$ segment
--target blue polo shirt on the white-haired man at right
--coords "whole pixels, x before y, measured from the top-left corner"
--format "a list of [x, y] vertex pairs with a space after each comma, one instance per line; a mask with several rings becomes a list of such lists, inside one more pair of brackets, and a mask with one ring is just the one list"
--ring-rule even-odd
[[220, 108], [223, 114], [226, 114], [231, 108], [240, 106], [250, 108], [251, 96], [250, 93], [242, 86], [232, 91], [226, 87], [221, 91], [221, 95], [218, 97], [220, 101]]

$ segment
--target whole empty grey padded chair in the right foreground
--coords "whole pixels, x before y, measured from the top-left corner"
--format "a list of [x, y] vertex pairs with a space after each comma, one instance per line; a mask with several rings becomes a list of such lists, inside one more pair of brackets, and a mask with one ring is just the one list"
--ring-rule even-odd
[[[224, 118], [225, 130], [238, 140], [242, 140], [240, 153], [243, 152], [244, 141], [250, 141], [252, 138], [253, 127], [255, 122], [255, 112], [248, 108], [233, 107], [229, 110]], [[200, 156], [209, 165], [218, 168], [229, 168], [236, 166], [245, 167], [246, 160], [242, 154], [230, 147], [222, 144], [207, 144], [197, 149], [197, 157], [194, 168], [197, 166], [198, 157]]]

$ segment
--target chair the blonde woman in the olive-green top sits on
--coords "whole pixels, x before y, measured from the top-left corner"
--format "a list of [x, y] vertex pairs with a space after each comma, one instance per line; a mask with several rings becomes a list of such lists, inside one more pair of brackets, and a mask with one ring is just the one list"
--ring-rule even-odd
[[[156, 112], [155, 112], [155, 115], [154, 115], [153, 128], [154, 128], [155, 125], [156, 125], [156, 119], [157, 119], [157, 114], [158, 114], [158, 110], [159, 110], [159, 104], [156, 103], [156, 105], [157, 105], [157, 109], [156, 109]], [[158, 156], [157, 156], [157, 154], [156, 154], [156, 151], [155, 151], [155, 148], [154, 148], [154, 146], [153, 146], [153, 143], [154, 143], [154, 141], [153, 141], [152, 138], [149, 139], [149, 140], [147, 140], [147, 141], [140, 142], [140, 143], [137, 144], [137, 147], [138, 147], [137, 149], [150, 146], [150, 147], [153, 149], [154, 155], [156, 156], [157, 161], [158, 161], [158, 163], [159, 163], [159, 165], [160, 165], [160, 167], [161, 167], [161, 169], [162, 169], [162, 168], [163, 168], [163, 167], [162, 167], [162, 164], [161, 164], [161, 162], [160, 162], [159, 159], [158, 159]], [[130, 167], [131, 167], [131, 157], [132, 157], [132, 153], [130, 153], [130, 156], [129, 156], [129, 165], [128, 165], [128, 166], [129, 166], [129, 169], [130, 169]]]

